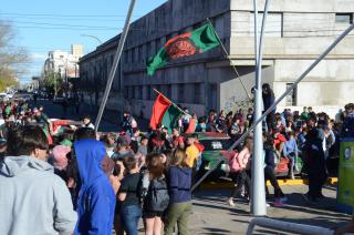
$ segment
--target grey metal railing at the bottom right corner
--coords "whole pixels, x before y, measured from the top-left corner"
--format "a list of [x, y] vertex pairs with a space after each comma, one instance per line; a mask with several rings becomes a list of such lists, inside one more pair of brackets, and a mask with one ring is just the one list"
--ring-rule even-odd
[[279, 232], [288, 232], [294, 234], [305, 235], [333, 235], [333, 231], [324, 227], [317, 227], [306, 224], [296, 224], [283, 221], [275, 221], [272, 218], [253, 218], [247, 229], [247, 235], [253, 234], [256, 226], [277, 229]]

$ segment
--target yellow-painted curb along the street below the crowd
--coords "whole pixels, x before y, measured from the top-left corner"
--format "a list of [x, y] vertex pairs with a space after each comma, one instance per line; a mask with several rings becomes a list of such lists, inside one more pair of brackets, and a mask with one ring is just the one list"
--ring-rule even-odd
[[[339, 182], [337, 177], [329, 177], [326, 184], [336, 185]], [[279, 185], [309, 185], [309, 180], [278, 180]], [[271, 186], [270, 181], [267, 181], [267, 186]], [[233, 188], [233, 182], [207, 182], [201, 184], [201, 190], [220, 190], [220, 188]]]

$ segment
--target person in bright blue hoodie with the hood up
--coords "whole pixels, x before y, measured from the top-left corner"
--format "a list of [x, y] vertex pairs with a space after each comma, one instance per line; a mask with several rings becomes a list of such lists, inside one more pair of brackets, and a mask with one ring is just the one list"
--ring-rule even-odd
[[81, 180], [74, 234], [112, 234], [116, 200], [102, 168], [106, 149], [102, 142], [86, 139], [74, 143], [74, 152]]

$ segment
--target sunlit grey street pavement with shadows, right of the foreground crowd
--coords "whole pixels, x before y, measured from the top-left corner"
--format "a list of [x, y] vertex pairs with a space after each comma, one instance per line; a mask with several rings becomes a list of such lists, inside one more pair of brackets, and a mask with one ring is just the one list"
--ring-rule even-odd
[[[272, 187], [269, 187], [272, 191]], [[327, 198], [319, 205], [309, 205], [302, 194], [308, 186], [282, 186], [289, 202], [283, 207], [268, 207], [268, 217], [284, 222], [333, 228], [348, 221], [350, 216], [335, 208], [336, 191], [326, 187], [323, 193]], [[190, 217], [190, 234], [246, 234], [248, 223], [252, 219], [250, 207], [236, 201], [230, 207], [226, 200], [229, 190], [198, 192], [194, 200], [194, 214]], [[287, 234], [258, 228], [254, 234]]]

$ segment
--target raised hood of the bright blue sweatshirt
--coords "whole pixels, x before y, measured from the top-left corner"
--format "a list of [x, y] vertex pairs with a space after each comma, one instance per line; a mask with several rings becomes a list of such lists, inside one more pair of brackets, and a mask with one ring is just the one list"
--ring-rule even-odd
[[91, 139], [75, 142], [74, 150], [82, 186], [88, 186], [104, 175], [101, 163], [106, 149], [102, 142]]

